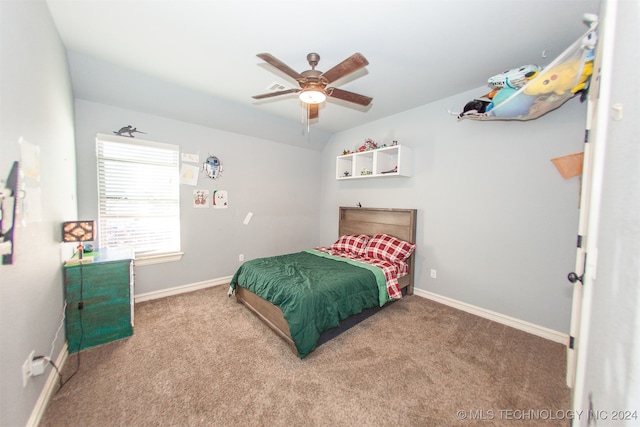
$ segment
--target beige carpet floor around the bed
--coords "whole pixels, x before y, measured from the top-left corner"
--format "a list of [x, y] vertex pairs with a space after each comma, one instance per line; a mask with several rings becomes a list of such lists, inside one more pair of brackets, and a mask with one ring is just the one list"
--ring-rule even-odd
[[226, 292], [137, 304], [41, 425], [570, 425], [563, 345], [410, 296], [301, 360]]

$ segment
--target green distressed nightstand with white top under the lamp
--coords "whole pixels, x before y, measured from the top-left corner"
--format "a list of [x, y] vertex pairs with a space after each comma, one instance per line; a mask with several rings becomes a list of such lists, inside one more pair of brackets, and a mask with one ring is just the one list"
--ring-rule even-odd
[[133, 334], [133, 250], [104, 248], [77, 257], [64, 266], [69, 354]]

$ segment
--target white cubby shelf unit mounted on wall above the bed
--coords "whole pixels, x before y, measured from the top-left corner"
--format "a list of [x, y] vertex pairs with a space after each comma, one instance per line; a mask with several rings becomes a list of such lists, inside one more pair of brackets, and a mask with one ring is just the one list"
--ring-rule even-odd
[[409, 147], [394, 145], [377, 148], [338, 156], [336, 179], [409, 177], [413, 173], [412, 165], [413, 153]]

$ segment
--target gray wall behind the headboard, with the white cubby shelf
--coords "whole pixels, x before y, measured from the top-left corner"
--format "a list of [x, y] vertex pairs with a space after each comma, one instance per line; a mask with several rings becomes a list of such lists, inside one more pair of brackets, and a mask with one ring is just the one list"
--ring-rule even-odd
[[[586, 104], [528, 122], [448, 113], [485, 91], [334, 135], [322, 158], [321, 243], [336, 234], [338, 206], [417, 208], [417, 288], [568, 333], [580, 182], [550, 160], [582, 151]], [[365, 138], [411, 147], [413, 177], [336, 181], [336, 156]]]

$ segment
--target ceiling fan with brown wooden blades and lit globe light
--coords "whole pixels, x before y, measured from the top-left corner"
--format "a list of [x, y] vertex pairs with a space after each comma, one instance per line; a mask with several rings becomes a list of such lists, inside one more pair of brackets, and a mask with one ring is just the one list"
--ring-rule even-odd
[[312, 52], [307, 55], [307, 61], [309, 61], [311, 69], [303, 71], [302, 73], [298, 73], [269, 53], [259, 53], [257, 56], [296, 80], [300, 85], [300, 89], [286, 89], [262, 95], [255, 95], [253, 96], [254, 99], [264, 99], [289, 93], [299, 93], [300, 100], [307, 105], [308, 119], [315, 119], [318, 117], [318, 105], [324, 102], [327, 97], [353, 102], [365, 107], [373, 101], [373, 98], [368, 96], [338, 89], [336, 87], [327, 87], [336, 80], [369, 65], [369, 61], [367, 61], [367, 59], [360, 53], [354, 53], [329, 71], [322, 72], [320, 70], [316, 70], [316, 66], [320, 61], [320, 55]]

